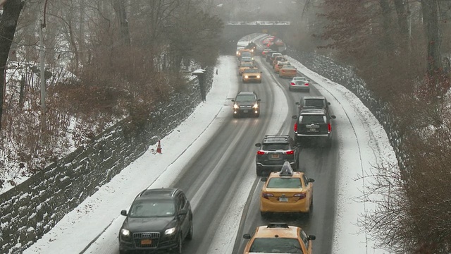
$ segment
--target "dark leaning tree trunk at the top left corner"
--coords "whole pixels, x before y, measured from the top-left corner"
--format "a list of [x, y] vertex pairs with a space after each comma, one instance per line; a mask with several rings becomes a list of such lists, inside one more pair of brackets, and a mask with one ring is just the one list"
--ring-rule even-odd
[[22, 0], [8, 0], [4, 3], [4, 11], [0, 16], [0, 130], [3, 115], [4, 88], [6, 85], [6, 63], [23, 6], [24, 1]]

